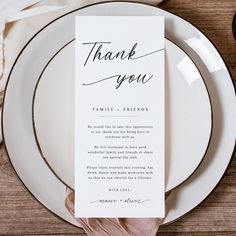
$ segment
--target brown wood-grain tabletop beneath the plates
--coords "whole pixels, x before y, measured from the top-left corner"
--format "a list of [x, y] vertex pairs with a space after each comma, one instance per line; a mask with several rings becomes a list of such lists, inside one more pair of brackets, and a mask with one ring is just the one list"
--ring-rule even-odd
[[[216, 45], [236, 78], [236, 40], [232, 20], [236, 0], [165, 0], [161, 8], [190, 21]], [[234, 82], [236, 82], [234, 80]], [[0, 234], [85, 235], [45, 209], [22, 185], [0, 147]], [[236, 235], [236, 159], [212, 194], [158, 235]]]

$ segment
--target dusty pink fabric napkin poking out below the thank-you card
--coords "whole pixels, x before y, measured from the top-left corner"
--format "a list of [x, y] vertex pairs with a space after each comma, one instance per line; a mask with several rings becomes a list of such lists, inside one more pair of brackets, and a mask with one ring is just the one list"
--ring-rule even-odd
[[[74, 216], [74, 192], [65, 199], [65, 206]], [[77, 218], [89, 236], [155, 236], [163, 219], [159, 218]]]

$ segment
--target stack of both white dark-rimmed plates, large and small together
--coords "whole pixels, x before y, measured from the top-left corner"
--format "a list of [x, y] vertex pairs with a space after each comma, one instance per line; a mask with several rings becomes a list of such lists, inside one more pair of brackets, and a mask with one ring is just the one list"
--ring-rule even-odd
[[163, 223], [170, 223], [201, 203], [223, 176], [235, 146], [236, 97], [212, 43], [190, 23], [159, 8], [127, 2], [87, 6], [54, 20], [27, 43], [12, 67], [4, 98], [2, 128], [12, 165], [45, 207], [79, 226], [64, 204], [67, 189], [74, 186], [76, 15], [165, 17], [166, 191], [172, 191]]

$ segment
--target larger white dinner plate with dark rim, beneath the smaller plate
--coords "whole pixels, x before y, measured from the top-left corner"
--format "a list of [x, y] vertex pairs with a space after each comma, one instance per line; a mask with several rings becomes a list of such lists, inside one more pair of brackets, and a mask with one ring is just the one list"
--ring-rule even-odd
[[[12, 165], [28, 190], [45, 207], [79, 226], [64, 206], [67, 194], [65, 185], [50, 171], [40, 155], [32, 123], [32, 100], [37, 80], [57, 52], [53, 46], [57, 42], [50, 38], [58, 34], [58, 47], [69, 42], [73, 34], [69, 29], [73, 27], [66, 32], [63, 29], [65, 25], [73, 25], [74, 16], [78, 14], [163, 15], [166, 37], [184, 49], [203, 75], [213, 108], [212, 140], [197, 171], [168, 197], [163, 223], [176, 220], [212, 192], [230, 162], [236, 136], [236, 97], [229, 72], [212, 43], [187, 21], [159, 8], [127, 2], [95, 4], [58, 18], [27, 43], [12, 67], [4, 98], [3, 136]], [[39, 51], [40, 54], [36, 55]]]

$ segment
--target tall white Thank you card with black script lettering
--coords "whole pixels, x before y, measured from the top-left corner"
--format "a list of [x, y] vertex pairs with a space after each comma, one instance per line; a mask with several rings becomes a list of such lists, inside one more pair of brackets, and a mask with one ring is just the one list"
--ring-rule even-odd
[[75, 216], [164, 217], [164, 18], [78, 16], [75, 45]]

